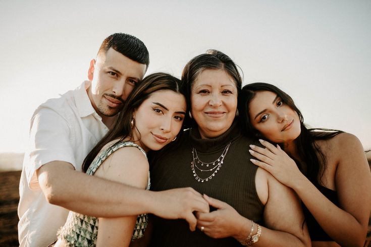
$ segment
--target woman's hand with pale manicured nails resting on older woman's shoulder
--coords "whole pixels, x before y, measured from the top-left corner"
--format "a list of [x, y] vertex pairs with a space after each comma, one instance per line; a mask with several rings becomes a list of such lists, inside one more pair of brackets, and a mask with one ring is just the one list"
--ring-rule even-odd
[[295, 180], [304, 176], [295, 161], [279, 145], [275, 147], [267, 141], [259, 141], [266, 148], [250, 145], [250, 154], [258, 159], [251, 159], [251, 162], [270, 172], [281, 183], [293, 188]]

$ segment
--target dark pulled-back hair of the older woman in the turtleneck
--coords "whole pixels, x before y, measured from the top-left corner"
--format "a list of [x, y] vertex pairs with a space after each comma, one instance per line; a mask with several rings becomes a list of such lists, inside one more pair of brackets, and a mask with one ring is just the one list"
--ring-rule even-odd
[[182, 88], [186, 96], [188, 114], [184, 119], [186, 128], [196, 126], [196, 122], [189, 117], [191, 110], [191, 89], [199, 74], [206, 69], [224, 70], [237, 87], [237, 95], [241, 92], [242, 77], [238, 66], [226, 54], [219, 50], [207, 50], [205, 53], [193, 57], [184, 67], [182, 72]]

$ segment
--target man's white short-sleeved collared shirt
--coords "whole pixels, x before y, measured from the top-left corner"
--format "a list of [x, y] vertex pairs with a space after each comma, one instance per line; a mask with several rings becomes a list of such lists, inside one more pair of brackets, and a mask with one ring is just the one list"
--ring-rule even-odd
[[28, 150], [19, 184], [18, 236], [20, 246], [47, 246], [57, 240], [68, 210], [49, 204], [36, 170], [51, 161], [71, 163], [77, 171], [95, 144], [108, 132], [91, 105], [85, 81], [75, 90], [41, 104], [31, 118]]

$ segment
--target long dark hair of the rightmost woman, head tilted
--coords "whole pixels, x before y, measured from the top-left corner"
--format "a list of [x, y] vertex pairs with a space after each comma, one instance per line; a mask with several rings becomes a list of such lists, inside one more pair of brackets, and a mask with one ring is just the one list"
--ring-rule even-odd
[[[258, 91], [270, 91], [276, 93], [282, 101], [293, 109], [300, 119], [300, 135], [295, 140], [296, 151], [305, 164], [298, 164], [301, 172], [315, 185], [319, 185], [326, 167], [326, 157], [320, 147], [315, 144], [316, 140], [327, 140], [342, 131], [329, 129], [308, 129], [304, 125], [303, 115], [294, 104], [292, 98], [281, 89], [268, 83], [252, 83], [244, 86], [238, 97], [238, 109], [240, 113], [241, 126], [246, 135], [254, 138], [263, 138], [263, 136], [252, 126], [249, 112], [249, 104]], [[284, 148], [284, 147], [283, 147]], [[295, 160], [297, 163], [298, 161]]]

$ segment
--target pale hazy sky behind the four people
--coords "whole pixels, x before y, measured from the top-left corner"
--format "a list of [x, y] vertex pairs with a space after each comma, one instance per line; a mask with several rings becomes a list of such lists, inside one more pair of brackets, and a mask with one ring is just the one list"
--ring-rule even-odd
[[25, 151], [34, 109], [87, 79], [115, 32], [140, 38], [148, 73], [180, 77], [208, 48], [228, 54], [244, 84], [269, 82], [304, 121], [371, 148], [371, 1], [0, 1], [0, 153]]

